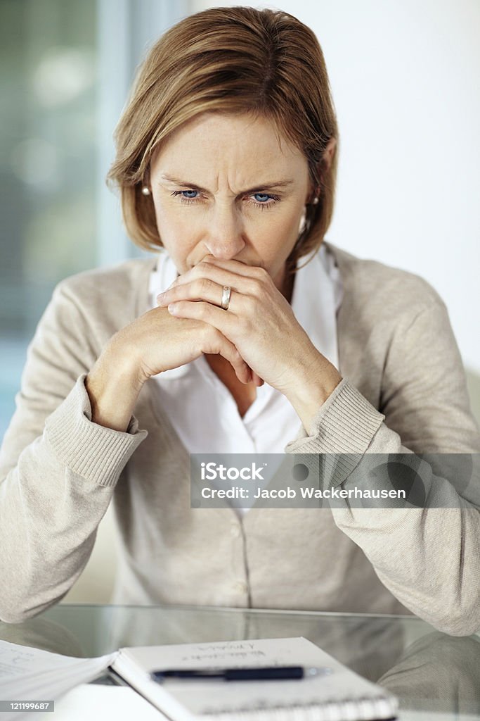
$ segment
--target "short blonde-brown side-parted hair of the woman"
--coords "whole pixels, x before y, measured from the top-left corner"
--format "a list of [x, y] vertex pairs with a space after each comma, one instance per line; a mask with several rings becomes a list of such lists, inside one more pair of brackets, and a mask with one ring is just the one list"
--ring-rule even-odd
[[219, 7], [181, 20], [148, 53], [114, 133], [117, 156], [107, 183], [119, 187], [127, 232], [142, 249], [162, 245], [151, 196], [142, 194], [160, 143], [202, 112], [253, 113], [305, 155], [318, 203], [307, 205], [304, 231], [287, 267], [320, 247], [332, 219], [337, 119], [322, 49], [312, 30], [270, 9]]

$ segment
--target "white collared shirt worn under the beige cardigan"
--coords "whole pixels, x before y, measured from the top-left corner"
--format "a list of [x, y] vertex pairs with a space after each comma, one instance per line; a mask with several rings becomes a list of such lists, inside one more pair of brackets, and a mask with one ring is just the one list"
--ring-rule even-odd
[[[299, 260], [300, 266], [305, 258]], [[173, 283], [178, 273], [165, 249], [150, 275], [150, 306]], [[291, 307], [315, 348], [338, 368], [336, 315], [343, 296], [338, 267], [321, 246], [307, 265], [296, 271]], [[155, 376], [163, 408], [190, 454], [283, 454], [301, 422], [286, 397], [268, 384], [243, 418], [230, 391], [204, 355], [180, 368]], [[205, 412], [208, 409], [208, 412]]]

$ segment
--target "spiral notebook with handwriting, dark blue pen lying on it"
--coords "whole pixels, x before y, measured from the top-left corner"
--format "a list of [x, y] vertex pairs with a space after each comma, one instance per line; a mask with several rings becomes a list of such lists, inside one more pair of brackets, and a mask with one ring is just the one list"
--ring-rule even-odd
[[[297, 681], [174, 681], [158, 669], [303, 665], [328, 675]], [[112, 668], [172, 721], [373, 721], [394, 719], [397, 699], [304, 638], [123, 648]]]

